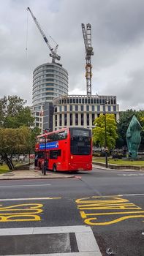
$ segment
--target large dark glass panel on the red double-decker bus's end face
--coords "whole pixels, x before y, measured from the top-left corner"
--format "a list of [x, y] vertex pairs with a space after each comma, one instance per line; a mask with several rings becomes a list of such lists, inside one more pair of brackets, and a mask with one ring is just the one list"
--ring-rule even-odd
[[91, 154], [91, 130], [71, 128], [70, 135], [71, 154]]

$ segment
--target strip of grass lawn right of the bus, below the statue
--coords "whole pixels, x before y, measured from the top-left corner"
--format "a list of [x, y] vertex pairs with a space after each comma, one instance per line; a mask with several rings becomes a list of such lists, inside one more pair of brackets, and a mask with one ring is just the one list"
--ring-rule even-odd
[[[96, 159], [93, 158], [94, 162], [105, 162], [105, 158], [103, 159]], [[114, 165], [139, 165], [139, 166], [144, 166], [144, 161], [130, 161], [130, 160], [123, 160], [123, 159], [108, 159], [109, 164], [114, 164]]]

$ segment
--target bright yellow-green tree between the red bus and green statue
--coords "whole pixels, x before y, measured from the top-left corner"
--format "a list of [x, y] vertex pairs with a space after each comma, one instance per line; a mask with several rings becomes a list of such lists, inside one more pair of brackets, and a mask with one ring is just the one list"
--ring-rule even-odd
[[[95, 128], [93, 129], [94, 144], [105, 147], [105, 115], [100, 114], [94, 121]], [[107, 132], [107, 148], [115, 147], [115, 140], [118, 138], [116, 133], [116, 121], [113, 114], [106, 114], [106, 132]]]

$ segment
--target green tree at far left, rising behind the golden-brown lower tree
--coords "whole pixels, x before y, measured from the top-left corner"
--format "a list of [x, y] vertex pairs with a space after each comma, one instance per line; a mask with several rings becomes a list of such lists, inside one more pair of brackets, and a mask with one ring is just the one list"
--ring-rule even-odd
[[19, 128], [34, 125], [34, 117], [31, 116], [29, 107], [25, 107], [26, 101], [18, 96], [4, 96], [0, 99], [0, 127]]

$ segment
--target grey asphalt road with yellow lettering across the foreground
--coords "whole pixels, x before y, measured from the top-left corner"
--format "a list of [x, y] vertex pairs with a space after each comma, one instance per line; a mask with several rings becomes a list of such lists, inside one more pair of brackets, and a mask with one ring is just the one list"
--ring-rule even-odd
[[[144, 172], [96, 168], [79, 172], [75, 178], [0, 181], [0, 228], [86, 225], [93, 230], [103, 256], [143, 256], [143, 184]], [[73, 246], [64, 252], [77, 252], [75, 236], [58, 236]], [[18, 236], [17, 241], [19, 237], [28, 238]], [[7, 239], [0, 238], [2, 248]], [[42, 239], [37, 237], [37, 241]]]

